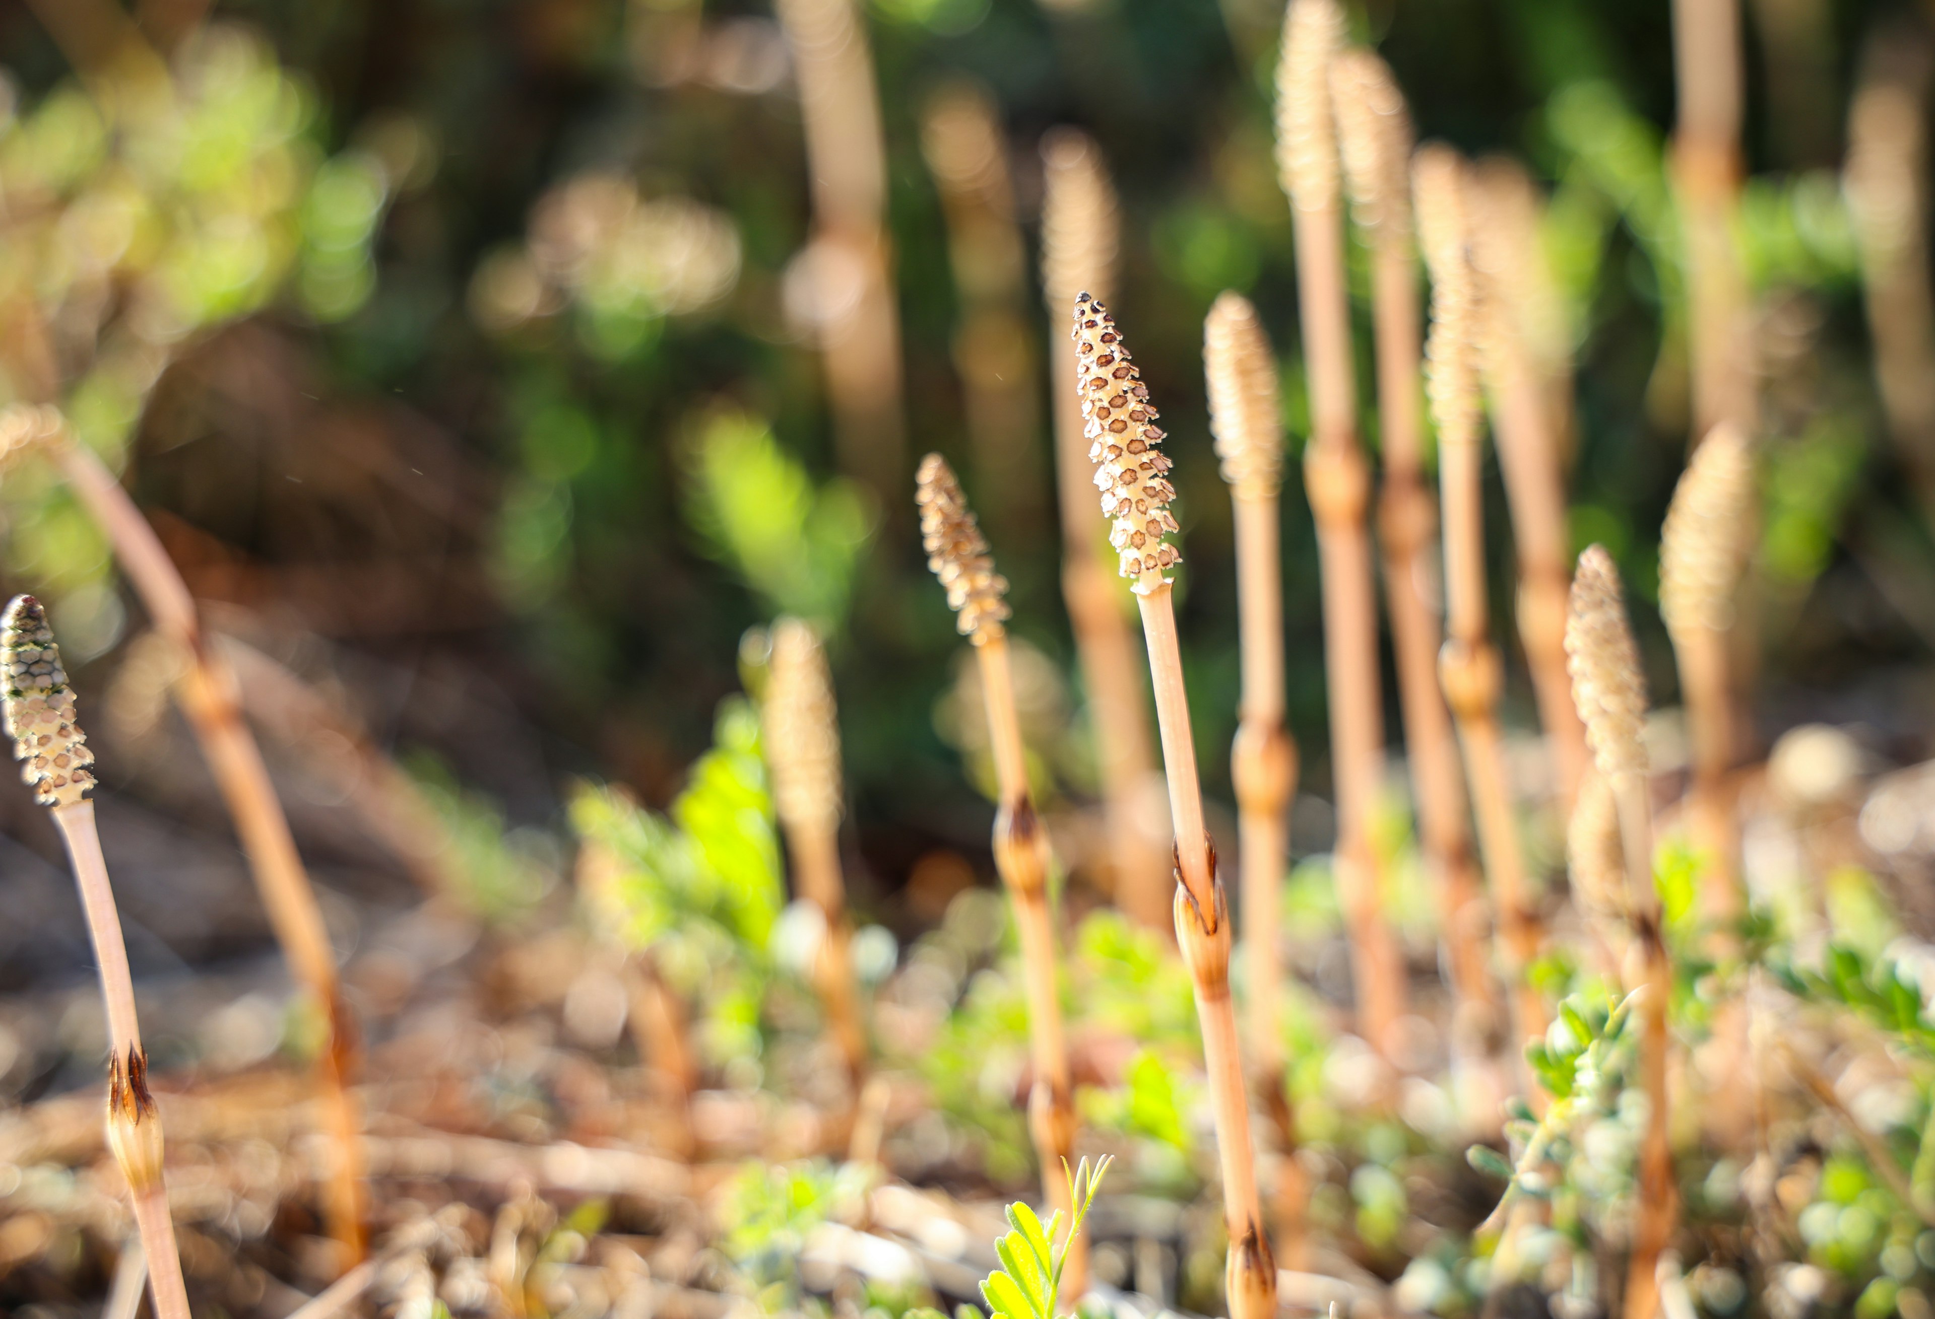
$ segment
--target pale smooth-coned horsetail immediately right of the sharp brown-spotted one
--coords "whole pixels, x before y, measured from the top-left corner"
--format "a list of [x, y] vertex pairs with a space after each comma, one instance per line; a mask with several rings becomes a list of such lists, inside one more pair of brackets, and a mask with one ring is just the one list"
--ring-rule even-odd
[[1236, 603], [1242, 634], [1242, 704], [1229, 770], [1236, 787], [1242, 851], [1242, 942], [1250, 977], [1252, 1085], [1277, 1128], [1277, 1255], [1302, 1257], [1304, 1180], [1283, 1077], [1277, 905], [1289, 868], [1289, 808], [1296, 793], [1296, 743], [1283, 727], [1283, 412], [1277, 354], [1256, 308], [1225, 292], [1204, 323], [1209, 429], [1223, 460], [1236, 522]]

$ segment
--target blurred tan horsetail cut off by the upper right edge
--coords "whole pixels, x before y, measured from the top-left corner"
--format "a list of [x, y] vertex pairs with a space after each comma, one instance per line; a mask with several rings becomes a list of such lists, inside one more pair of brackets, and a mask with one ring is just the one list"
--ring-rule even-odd
[[1848, 112], [1844, 188], [1861, 244], [1867, 327], [1889, 431], [1921, 503], [1935, 509], [1935, 302], [1921, 184], [1927, 54], [1916, 50], [1916, 56], [1869, 60]]

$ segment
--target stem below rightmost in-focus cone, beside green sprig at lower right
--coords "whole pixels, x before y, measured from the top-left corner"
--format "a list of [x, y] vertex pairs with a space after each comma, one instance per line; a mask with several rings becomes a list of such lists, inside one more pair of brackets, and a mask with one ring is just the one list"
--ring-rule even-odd
[[1652, 808], [1643, 774], [1612, 776], [1620, 810], [1620, 851], [1625, 857], [1625, 897], [1633, 913], [1641, 1002], [1639, 1070], [1647, 1089], [1647, 1131], [1639, 1145], [1639, 1218], [1625, 1276], [1625, 1319], [1652, 1319], [1658, 1307], [1658, 1263], [1680, 1216], [1674, 1157], [1668, 1141], [1672, 1110], [1666, 1093], [1668, 1010], [1674, 973], [1660, 930], [1660, 901], [1652, 886]]

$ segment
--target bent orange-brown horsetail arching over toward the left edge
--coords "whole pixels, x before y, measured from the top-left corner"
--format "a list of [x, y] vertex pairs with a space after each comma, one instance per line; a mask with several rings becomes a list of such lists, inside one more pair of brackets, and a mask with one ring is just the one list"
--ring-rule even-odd
[[172, 640], [186, 667], [176, 700], [201, 743], [215, 783], [242, 837], [255, 890], [269, 926], [288, 961], [290, 975], [323, 1013], [327, 1041], [317, 1056], [317, 1083], [329, 1133], [337, 1145], [335, 1172], [323, 1187], [329, 1234], [350, 1263], [364, 1255], [362, 1226], [362, 1120], [348, 1091], [358, 1070], [356, 1033], [337, 982], [337, 955], [329, 944], [315, 890], [296, 851], [288, 816], [275, 795], [261, 748], [242, 718], [236, 679], [201, 630], [188, 584], [168, 559], [155, 528], [101, 464], [91, 449], [68, 431], [66, 418], [50, 406], [14, 406], [0, 412], [0, 470], [27, 454], [46, 456], [74, 489], [95, 524], [114, 545], [114, 557], [141, 594], [155, 627]]

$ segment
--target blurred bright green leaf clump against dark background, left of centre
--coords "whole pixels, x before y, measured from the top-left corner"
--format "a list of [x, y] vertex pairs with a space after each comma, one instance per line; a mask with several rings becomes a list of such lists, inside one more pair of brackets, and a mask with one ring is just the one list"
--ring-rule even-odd
[[840, 478], [815, 487], [764, 422], [737, 412], [704, 424], [689, 468], [685, 507], [704, 553], [774, 613], [836, 634], [877, 522], [861, 487]]

